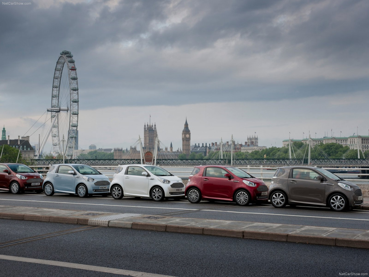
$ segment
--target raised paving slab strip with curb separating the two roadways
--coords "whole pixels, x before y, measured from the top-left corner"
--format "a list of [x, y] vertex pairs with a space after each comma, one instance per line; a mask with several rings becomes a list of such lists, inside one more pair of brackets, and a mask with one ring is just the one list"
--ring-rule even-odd
[[245, 239], [314, 243], [369, 249], [369, 230], [242, 222], [137, 213], [105, 213], [49, 208], [0, 206], [0, 218], [75, 223]]

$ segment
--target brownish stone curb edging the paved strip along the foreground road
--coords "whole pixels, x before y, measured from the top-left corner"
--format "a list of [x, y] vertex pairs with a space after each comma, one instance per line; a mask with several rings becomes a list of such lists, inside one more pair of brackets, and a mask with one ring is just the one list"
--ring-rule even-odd
[[[20, 213], [0, 213], [0, 218], [4, 219], [22, 219], [22, 220], [35, 220], [43, 222], [57, 222], [57, 223], [72, 223], [88, 225], [88, 218], [77, 218], [68, 216], [43, 216], [43, 215], [29, 215]], [[284, 234], [284, 233], [269, 233], [247, 230], [230, 230], [230, 229], [217, 229], [217, 228], [201, 228], [192, 226], [177, 226], [177, 225], [165, 225], [156, 223], [142, 223], [142, 222], [124, 222], [110, 220], [109, 227], [138, 229], [138, 230], [152, 230], [162, 232], [176, 232], [176, 233], [188, 233], [188, 234], [200, 234], [200, 235], [213, 235], [213, 236], [225, 236], [225, 237], [238, 237], [244, 239], [260, 239], [260, 240], [274, 240], [283, 242], [297, 242], [297, 243], [311, 243], [311, 244], [323, 244], [331, 246], [344, 246], [369, 249], [369, 240], [360, 239], [344, 239], [336, 237], [324, 237], [324, 236], [304, 236], [297, 234]]]

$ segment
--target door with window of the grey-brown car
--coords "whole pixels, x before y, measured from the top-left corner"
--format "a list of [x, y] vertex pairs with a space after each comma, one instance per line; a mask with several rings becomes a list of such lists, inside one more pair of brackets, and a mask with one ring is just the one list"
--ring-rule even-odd
[[317, 179], [319, 175], [308, 168], [293, 168], [288, 178], [290, 199], [300, 202], [323, 203], [325, 184]]

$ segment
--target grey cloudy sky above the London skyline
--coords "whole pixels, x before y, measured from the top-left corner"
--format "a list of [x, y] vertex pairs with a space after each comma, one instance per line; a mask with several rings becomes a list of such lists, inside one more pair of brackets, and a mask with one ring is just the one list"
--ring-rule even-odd
[[46, 133], [50, 121], [37, 128], [62, 50], [76, 61], [83, 149], [129, 148], [150, 115], [175, 149], [186, 117], [192, 144], [369, 134], [369, 1], [26, 2], [0, 6], [0, 124], [11, 138]]

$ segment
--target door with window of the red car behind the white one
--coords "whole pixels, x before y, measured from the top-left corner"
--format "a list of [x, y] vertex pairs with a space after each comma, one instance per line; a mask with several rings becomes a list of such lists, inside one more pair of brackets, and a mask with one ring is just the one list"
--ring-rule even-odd
[[202, 194], [210, 198], [232, 198], [232, 181], [224, 177], [228, 172], [220, 167], [207, 167], [201, 178]]

